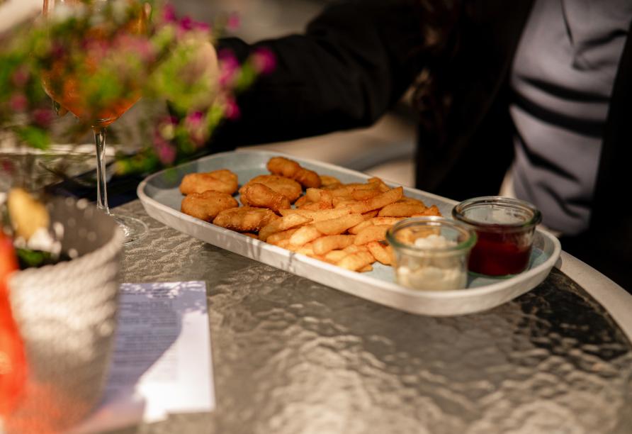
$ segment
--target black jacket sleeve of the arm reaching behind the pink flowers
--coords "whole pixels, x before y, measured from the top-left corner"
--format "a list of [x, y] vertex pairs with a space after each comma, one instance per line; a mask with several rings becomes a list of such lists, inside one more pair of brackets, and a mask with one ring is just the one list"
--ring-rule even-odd
[[329, 6], [304, 35], [254, 45], [235, 38], [221, 40], [219, 49], [232, 50], [239, 60], [257, 47], [269, 48], [277, 66], [239, 96], [241, 116], [223, 123], [211, 150], [291, 140], [376, 121], [400, 99], [429, 55], [419, 4], [419, 0], [344, 1]]

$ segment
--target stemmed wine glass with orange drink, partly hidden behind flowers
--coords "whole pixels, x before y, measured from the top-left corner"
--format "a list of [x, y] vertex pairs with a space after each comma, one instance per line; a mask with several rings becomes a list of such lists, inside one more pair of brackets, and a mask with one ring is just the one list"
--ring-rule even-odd
[[[46, 18], [55, 8], [74, 8], [81, 6], [82, 3], [81, 0], [44, 0], [43, 16]], [[89, 9], [89, 11], [98, 12], [99, 9], [105, 7], [107, 3], [108, 0], [93, 0], [90, 4], [92, 9]], [[149, 4], [142, 5], [138, 16], [128, 21], [123, 28], [118, 30], [132, 35], [144, 33], [147, 28], [147, 20], [150, 12]], [[98, 24], [99, 20], [95, 21], [96, 24], [89, 29], [91, 40], [96, 40], [98, 43], [101, 38], [103, 42], [107, 42], [105, 40], [105, 38], [107, 38], [106, 32], [101, 31], [99, 28], [99, 26], [103, 26], [103, 24]], [[107, 45], [103, 44], [103, 46]], [[86, 56], [86, 65], [84, 66], [90, 69], [93, 65], [98, 65], [99, 60], [98, 57]], [[115, 219], [125, 234], [125, 245], [132, 245], [142, 240], [142, 238], [145, 238], [148, 229], [147, 225], [138, 218], [123, 216], [110, 211], [106, 182], [106, 127], [116, 121], [116, 119], [123, 115], [125, 111], [128, 111], [128, 109], [140, 99], [140, 91], [137, 89], [129, 89], [128, 94], [125, 96], [115, 101], [110, 101], [108, 106], [100, 107], [97, 111], [94, 111], [92, 107], [89, 106], [89, 101], [84, 101], [81, 98], [81, 96], [85, 94], [82, 92], [83, 89], [81, 89], [81, 86], [84, 86], [85, 83], [75, 77], [72, 72], [69, 72], [67, 66], [63, 57], [61, 57], [60, 60], [53, 61], [50, 68], [42, 72], [44, 89], [55, 101], [56, 109], [70, 111], [74, 116], [77, 116], [77, 118], [91, 125], [94, 132], [94, 143], [96, 145], [96, 206], [103, 213]]]

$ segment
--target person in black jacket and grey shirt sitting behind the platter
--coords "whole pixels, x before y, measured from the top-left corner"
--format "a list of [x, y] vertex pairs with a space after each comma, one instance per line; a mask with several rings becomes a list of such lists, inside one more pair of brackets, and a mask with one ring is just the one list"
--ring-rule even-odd
[[369, 126], [411, 86], [416, 187], [497, 194], [509, 167], [563, 249], [632, 291], [632, 3], [348, 0], [264, 46], [276, 70], [239, 96], [213, 151]]

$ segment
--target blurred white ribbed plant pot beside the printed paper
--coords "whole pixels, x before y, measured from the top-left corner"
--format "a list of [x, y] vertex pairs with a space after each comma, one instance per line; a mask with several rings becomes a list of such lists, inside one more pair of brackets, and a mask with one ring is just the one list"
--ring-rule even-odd
[[56, 198], [52, 225], [76, 259], [11, 277], [11, 307], [26, 345], [28, 384], [5, 429], [62, 430], [99, 403], [118, 310], [123, 233], [85, 201]]

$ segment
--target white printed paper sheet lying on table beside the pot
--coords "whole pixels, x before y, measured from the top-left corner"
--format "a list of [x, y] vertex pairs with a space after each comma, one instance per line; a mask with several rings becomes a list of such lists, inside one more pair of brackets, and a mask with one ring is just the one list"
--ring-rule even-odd
[[205, 282], [122, 284], [101, 405], [72, 433], [215, 408]]

